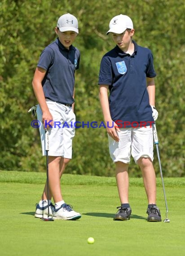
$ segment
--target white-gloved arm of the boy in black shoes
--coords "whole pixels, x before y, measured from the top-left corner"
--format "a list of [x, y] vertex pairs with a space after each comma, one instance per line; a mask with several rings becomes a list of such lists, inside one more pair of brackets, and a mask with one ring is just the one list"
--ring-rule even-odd
[[149, 103], [152, 108], [152, 116], [154, 121], [158, 118], [158, 111], [155, 109], [155, 81], [154, 78], [146, 78], [147, 90], [149, 95]]

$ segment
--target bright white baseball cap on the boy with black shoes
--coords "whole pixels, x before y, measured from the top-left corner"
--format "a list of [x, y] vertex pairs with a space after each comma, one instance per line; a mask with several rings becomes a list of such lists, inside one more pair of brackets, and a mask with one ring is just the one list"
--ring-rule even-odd
[[109, 23], [109, 28], [110, 29], [109, 31], [107, 31], [106, 35], [108, 35], [110, 32], [121, 34], [127, 28], [132, 29], [133, 23], [130, 17], [128, 17], [127, 15], [120, 14], [111, 19]]

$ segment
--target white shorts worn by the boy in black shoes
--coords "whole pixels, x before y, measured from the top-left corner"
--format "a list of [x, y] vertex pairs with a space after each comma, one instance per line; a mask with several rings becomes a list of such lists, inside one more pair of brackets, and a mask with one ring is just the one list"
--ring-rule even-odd
[[135, 163], [140, 157], [154, 160], [153, 131], [150, 126], [141, 128], [120, 128], [119, 142], [108, 135], [109, 152], [113, 162], [130, 163], [132, 154]]

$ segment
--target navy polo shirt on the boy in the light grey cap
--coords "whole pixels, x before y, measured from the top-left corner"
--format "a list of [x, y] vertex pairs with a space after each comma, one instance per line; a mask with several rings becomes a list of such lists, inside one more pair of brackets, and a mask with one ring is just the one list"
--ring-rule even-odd
[[46, 70], [42, 81], [45, 98], [63, 104], [74, 102], [75, 70], [79, 68], [80, 53], [72, 45], [66, 49], [57, 38], [41, 53], [38, 67]]

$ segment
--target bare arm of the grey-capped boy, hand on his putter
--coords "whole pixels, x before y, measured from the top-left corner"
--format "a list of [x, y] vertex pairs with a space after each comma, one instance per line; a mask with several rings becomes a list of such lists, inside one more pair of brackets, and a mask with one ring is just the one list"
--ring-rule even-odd
[[[53, 116], [49, 112], [48, 106], [46, 104], [45, 96], [44, 96], [44, 91], [42, 88], [42, 80], [44, 79], [45, 74], [46, 74], [46, 70], [40, 67], [36, 67], [35, 74], [32, 81], [35, 97], [42, 110], [42, 122], [44, 124], [44, 128], [45, 128], [45, 122], [48, 123], [50, 120], [52, 120], [52, 122], [50, 122], [49, 124], [53, 126]], [[49, 128], [48, 125], [47, 125], [47, 128]]]

